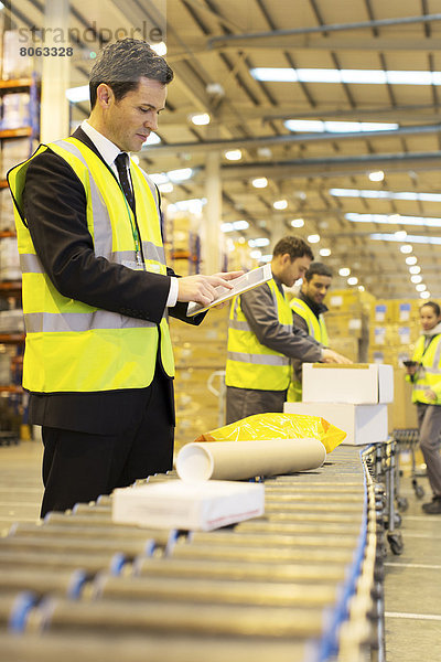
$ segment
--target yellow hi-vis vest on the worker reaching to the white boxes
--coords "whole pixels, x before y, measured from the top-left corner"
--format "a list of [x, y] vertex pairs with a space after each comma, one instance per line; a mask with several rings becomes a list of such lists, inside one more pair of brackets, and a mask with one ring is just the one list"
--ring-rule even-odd
[[[268, 281], [279, 323], [292, 333], [292, 312], [273, 279]], [[265, 287], [265, 286], [261, 286]], [[261, 344], [248, 325], [240, 296], [232, 302], [228, 327], [227, 386], [257, 391], [284, 391], [290, 380], [290, 360]]]

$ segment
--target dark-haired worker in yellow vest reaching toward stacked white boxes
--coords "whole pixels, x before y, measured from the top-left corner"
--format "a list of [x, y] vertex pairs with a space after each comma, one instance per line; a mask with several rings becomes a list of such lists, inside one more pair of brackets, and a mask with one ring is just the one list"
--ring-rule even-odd
[[291, 359], [351, 363], [292, 324], [283, 285], [292, 287], [313, 258], [300, 237], [280, 239], [272, 254], [272, 279], [233, 299], [225, 375], [227, 424], [252, 414], [283, 410]]

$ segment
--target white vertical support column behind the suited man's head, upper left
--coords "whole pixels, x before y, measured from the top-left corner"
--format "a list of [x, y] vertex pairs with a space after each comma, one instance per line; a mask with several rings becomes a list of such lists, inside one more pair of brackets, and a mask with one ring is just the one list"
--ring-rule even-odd
[[[45, 32], [43, 46], [75, 47], [67, 42], [68, 33], [68, 0], [46, 0]], [[55, 43], [54, 34], [66, 35], [65, 43]], [[42, 58], [42, 98], [41, 98], [41, 142], [51, 142], [68, 136], [68, 100], [66, 89], [69, 86], [69, 65], [72, 57], [50, 55]]]

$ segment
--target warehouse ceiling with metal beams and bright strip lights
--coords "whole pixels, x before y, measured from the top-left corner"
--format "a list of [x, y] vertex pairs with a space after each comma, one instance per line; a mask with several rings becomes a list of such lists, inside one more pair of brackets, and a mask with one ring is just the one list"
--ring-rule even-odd
[[[40, 0], [3, 4], [19, 25], [44, 24]], [[346, 287], [337, 276], [346, 267], [377, 297], [415, 298], [426, 286], [441, 298], [437, 11], [435, 0], [72, 0], [69, 26], [80, 29], [72, 85], [87, 83], [87, 34], [99, 47], [118, 29], [157, 39], [148, 26], [159, 26], [175, 79], [161, 142], [142, 152], [143, 166], [193, 170], [164, 193], [169, 202], [204, 197], [206, 161], [217, 153], [220, 221], [248, 223], [228, 236], [319, 235], [313, 249], [334, 269], [334, 287]], [[260, 67], [289, 79], [257, 79]], [[76, 121], [87, 114], [87, 103], [72, 109]], [[194, 125], [195, 114], [208, 114], [209, 124]], [[228, 160], [229, 150], [240, 159]], [[378, 172], [384, 179], [375, 181]], [[256, 178], [267, 185], [256, 188]], [[275, 209], [280, 201], [286, 207]], [[410, 266], [420, 267], [413, 279], [421, 282], [411, 282]]]

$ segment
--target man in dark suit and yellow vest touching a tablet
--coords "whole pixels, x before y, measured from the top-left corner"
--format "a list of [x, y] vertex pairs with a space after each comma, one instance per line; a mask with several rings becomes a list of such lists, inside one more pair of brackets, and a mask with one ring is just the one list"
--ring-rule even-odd
[[146, 42], [110, 44], [90, 73], [90, 117], [40, 148], [20, 170], [24, 185], [10, 173], [23, 385], [44, 444], [42, 516], [171, 469], [166, 313], [200, 323], [203, 316], [186, 318], [187, 302], [212, 302], [215, 287], [239, 275], [175, 277], [163, 259], [159, 192], [128, 163], [157, 129], [172, 77]]

